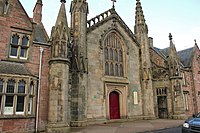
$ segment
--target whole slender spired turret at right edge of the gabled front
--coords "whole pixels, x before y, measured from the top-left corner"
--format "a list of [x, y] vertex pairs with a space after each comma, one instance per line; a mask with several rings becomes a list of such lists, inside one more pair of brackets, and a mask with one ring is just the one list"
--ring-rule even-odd
[[155, 118], [153, 108], [153, 87], [151, 76], [150, 43], [148, 38], [148, 27], [140, 0], [136, 0], [135, 11], [135, 36], [140, 45], [140, 75], [143, 91], [143, 115], [148, 118]]

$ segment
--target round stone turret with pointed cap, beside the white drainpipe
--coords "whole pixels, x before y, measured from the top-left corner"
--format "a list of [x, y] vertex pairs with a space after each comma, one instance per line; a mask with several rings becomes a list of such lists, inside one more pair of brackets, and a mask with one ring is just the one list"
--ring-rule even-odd
[[65, 0], [61, 0], [60, 11], [51, 32], [51, 59], [49, 61], [49, 110], [48, 133], [69, 132], [69, 27], [65, 10]]

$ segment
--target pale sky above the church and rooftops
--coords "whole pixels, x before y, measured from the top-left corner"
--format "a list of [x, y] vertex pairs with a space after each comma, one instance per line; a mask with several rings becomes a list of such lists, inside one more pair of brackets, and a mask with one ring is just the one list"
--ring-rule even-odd
[[[20, 0], [29, 17], [33, 16], [36, 0]], [[111, 0], [87, 0], [88, 19], [107, 11], [112, 7]], [[70, 3], [66, 0], [68, 23], [70, 24]], [[194, 39], [200, 46], [200, 0], [141, 0], [149, 36], [154, 46], [169, 46], [169, 33], [172, 33], [177, 50], [194, 46]], [[134, 31], [136, 0], [117, 0], [115, 8], [129, 28]], [[60, 0], [43, 0], [43, 24], [50, 35], [55, 25]]]

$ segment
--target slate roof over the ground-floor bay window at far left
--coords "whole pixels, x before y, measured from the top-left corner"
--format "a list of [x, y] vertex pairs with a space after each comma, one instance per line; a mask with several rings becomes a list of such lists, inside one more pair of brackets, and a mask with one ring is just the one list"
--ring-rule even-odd
[[6, 61], [0, 61], [0, 74], [31, 75], [23, 64]]

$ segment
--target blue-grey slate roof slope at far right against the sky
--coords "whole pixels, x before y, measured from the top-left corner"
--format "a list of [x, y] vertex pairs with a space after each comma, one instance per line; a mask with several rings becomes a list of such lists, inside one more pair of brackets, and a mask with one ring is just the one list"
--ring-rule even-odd
[[178, 52], [178, 56], [185, 67], [190, 67], [192, 60], [193, 47]]

